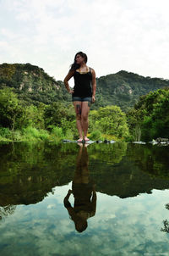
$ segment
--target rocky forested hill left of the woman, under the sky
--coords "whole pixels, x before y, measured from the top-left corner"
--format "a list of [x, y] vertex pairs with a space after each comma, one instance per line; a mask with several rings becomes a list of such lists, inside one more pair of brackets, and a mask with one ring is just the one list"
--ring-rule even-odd
[[0, 89], [4, 86], [13, 87], [19, 99], [35, 105], [71, 100], [63, 81], [56, 81], [31, 64], [0, 64]]

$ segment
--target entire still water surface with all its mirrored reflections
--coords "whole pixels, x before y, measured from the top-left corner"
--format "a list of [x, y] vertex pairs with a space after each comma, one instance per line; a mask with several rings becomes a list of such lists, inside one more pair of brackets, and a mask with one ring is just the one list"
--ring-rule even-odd
[[0, 255], [169, 255], [169, 147], [0, 145]]

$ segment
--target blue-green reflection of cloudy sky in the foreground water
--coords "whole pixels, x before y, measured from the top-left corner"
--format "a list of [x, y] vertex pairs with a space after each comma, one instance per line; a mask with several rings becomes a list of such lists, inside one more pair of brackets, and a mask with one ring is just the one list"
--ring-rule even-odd
[[[87, 230], [79, 234], [63, 206], [69, 188], [71, 183], [57, 186], [43, 202], [17, 206], [14, 214], [0, 225], [2, 255], [117, 256], [168, 252], [168, 235], [161, 232], [162, 220], [169, 219], [165, 209], [169, 203], [167, 190], [125, 199], [98, 192], [96, 214], [88, 220]], [[73, 196], [70, 202], [73, 204]]]

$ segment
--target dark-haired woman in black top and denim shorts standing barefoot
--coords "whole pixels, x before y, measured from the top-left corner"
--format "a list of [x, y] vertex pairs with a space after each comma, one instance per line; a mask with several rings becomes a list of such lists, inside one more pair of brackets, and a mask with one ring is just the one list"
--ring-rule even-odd
[[[68, 71], [64, 79], [64, 85], [69, 93], [72, 94], [72, 101], [76, 113], [76, 124], [79, 131], [78, 142], [88, 142], [88, 115], [90, 111], [90, 103], [95, 103], [95, 70], [86, 65], [87, 55], [79, 52], [75, 54], [74, 64]], [[74, 76], [74, 89], [68, 85], [68, 81]], [[83, 138], [84, 132], [84, 138]]]

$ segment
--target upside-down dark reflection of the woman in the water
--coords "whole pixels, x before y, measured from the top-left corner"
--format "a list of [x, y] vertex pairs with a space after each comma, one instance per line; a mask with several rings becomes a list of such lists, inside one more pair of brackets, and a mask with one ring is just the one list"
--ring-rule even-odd
[[[87, 228], [87, 220], [95, 215], [96, 209], [96, 192], [95, 184], [90, 181], [88, 170], [88, 153], [87, 146], [79, 143], [79, 154], [77, 157], [72, 190], [68, 191], [64, 198], [64, 206], [68, 210], [71, 219], [77, 231], [83, 232]], [[68, 202], [71, 193], [74, 195], [74, 208]]]

